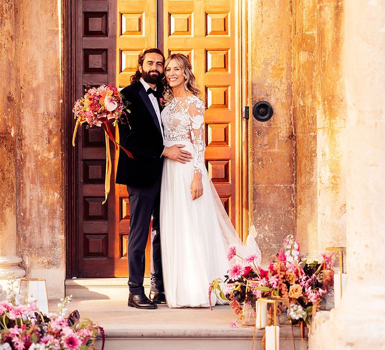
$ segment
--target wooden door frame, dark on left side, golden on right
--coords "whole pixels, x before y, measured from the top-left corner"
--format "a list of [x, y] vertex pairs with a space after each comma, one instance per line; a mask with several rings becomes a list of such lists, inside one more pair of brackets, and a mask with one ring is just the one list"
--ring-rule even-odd
[[[236, 83], [237, 97], [236, 110], [237, 120], [237, 139], [236, 149], [237, 163], [240, 164], [236, 171], [236, 188], [239, 189], [236, 208], [241, 211], [237, 217], [237, 226], [240, 228], [242, 239], [245, 241], [249, 230], [248, 212], [248, 121], [242, 115], [244, 105], [251, 106], [251, 69], [249, 69], [250, 42], [248, 40], [250, 32], [249, 4], [247, 0], [236, 1], [237, 23], [241, 24], [236, 28], [239, 38], [237, 51], [239, 59], [236, 64], [237, 76]], [[75, 119], [72, 115], [72, 106], [76, 98], [75, 93], [75, 30], [77, 27], [75, 0], [62, 1], [62, 20], [63, 20], [63, 102], [64, 102], [64, 184], [65, 184], [65, 237], [66, 237], [66, 277], [77, 276], [76, 256], [73, 249], [77, 245], [76, 237], [76, 212], [77, 207], [77, 154], [75, 147], [72, 146], [72, 131], [75, 126]], [[157, 0], [158, 8], [162, 8], [162, 0]], [[162, 16], [158, 16], [162, 18]], [[247, 18], [247, 21], [243, 20]], [[159, 33], [158, 33], [159, 34]], [[158, 41], [159, 42], [159, 41]], [[250, 108], [251, 109], [251, 108]]]

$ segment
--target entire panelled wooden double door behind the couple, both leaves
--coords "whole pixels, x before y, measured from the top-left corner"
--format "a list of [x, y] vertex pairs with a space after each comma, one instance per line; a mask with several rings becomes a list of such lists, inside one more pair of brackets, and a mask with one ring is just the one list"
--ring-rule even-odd
[[[163, 45], [193, 63], [206, 100], [206, 165], [234, 225], [240, 230], [241, 123], [235, 0], [76, 1], [76, 98], [87, 85], [129, 84], [138, 54]], [[163, 21], [157, 21], [163, 13]], [[158, 13], [157, 13], [158, 12]], [[159, 33], [163, 33], [159, 37]], [[157, 37], [158, 35], [158, 37]], [[125, 186], [114, 184], [118, 152], [112, 149], [111, 192], [104, 197], [105, 143], [100, 128], [83, 128], [76, 145], [74, 275], [127, 276], [129, 205]], [[146, 274], [149, 271], [147, 245]]]

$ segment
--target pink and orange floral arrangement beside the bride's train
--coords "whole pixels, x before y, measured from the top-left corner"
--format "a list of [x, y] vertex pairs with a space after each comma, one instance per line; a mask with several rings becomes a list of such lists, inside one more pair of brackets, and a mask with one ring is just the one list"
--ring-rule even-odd
[[[230, 247], [230, 261], [237, 252]], [[292, 324], [306, 322], [316, 312], [322, 297], [328, 292], [333, 283], [332, 257], [322, 254], [322, 261], [308, 262], [301, 257], [300, 247], [293, 235], [284, 239], [284, 248], [274, 255], [268, 268], [256, 268], [253, 261], [246, 258], [243, 262], [231, 265], [225, 280], [218, 278], [213, 281], [210, 289], [219, 291], [221, 296], [229, 300], [230, 305], [242, 317], [242, 304], [255, 309], [258, 298], [285, 298], [283, 305]], [[223, 285], [221, 282], [224, 282]], [[246, 294], [249, 283], [251, 292]], [[233, 323], [236, 326], [236, 322]]]

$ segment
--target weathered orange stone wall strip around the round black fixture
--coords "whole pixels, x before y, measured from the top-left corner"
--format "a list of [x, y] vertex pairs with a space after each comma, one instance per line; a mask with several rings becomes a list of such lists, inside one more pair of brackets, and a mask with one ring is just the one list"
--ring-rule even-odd
[[295, 230], [295, 143], [291, 112], [291, 3], [252, 1], [252, 97], [269, 101], [272, 119], [249, 122], [249, 221], [267, 261]]

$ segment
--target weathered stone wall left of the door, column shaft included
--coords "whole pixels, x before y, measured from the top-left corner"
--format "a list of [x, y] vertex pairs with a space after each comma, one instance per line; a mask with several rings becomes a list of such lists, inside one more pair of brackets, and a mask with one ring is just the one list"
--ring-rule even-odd
[[7, 95], [7, 103], [3, 97], [0, 103], [0, 174], [6, 173], [7, 195], [0, 212], [8, 216], [1, 218], [0, 243], [17, 230], [27, 276], [46, 278], [49, 295], [59, 297], [65, 278], [60, 1], [2, 6], [1, 30], [8, 35], [2, 35], [6, 69], [0, 69]]

